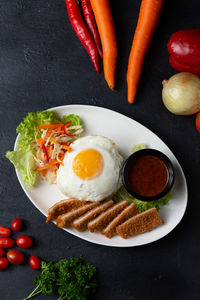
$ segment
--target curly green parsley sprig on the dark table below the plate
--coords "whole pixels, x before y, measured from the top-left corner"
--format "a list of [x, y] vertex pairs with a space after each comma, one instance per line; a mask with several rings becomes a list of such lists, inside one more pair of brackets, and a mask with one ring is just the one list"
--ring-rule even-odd
[[38, 294], [57, 293], [58, 300], [85, 300], [97, 288], [96, 268], [82, 258], [61, 259], [57, 263], [41, 262], [41, 274], [35, 277], [36, 288], [24, 300]]

